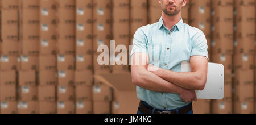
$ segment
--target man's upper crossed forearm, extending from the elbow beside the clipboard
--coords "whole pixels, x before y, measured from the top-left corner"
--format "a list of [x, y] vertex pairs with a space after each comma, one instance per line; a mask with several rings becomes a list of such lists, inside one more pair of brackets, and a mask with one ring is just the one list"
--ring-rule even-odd
[[172, 82], [173, 84], [183, 87], [184, 89], [189, 90], [201, 90], [201, 79], [199, 74], [196, 72], [172, 72], [170, 70], [166, 69], [158, 69], [155, 72], [152, 72], [159, 76], [160, 78], [163, 78], [164, 80], [167, 80], [169, 82]]

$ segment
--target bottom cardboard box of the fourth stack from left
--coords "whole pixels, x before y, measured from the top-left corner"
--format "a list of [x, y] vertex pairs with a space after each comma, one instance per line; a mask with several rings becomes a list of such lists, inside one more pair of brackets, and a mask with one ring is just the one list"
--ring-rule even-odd
[[73, 101], [58, 101], [57, 114], [74, 114], [74, 105]]

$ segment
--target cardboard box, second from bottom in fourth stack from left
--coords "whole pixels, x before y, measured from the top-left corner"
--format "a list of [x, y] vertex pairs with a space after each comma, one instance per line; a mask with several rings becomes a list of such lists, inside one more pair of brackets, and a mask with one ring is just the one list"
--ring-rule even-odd
[[75, 91], [73, 86], [57, 86], [58, 101], [73, 101], [75, 99]]

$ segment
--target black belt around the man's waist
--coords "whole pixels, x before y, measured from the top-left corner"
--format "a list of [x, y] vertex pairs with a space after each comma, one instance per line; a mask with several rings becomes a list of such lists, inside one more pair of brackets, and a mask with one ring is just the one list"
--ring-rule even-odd
[[[153, 114], [187, 114], [189, 111], [191, 111], [193, 109], [192, 107], [192, 103], [189, 104], [188, 106], [186, 107], [183, 107], [182, 109], [178, 109], [178, 112], [176, 110], [174, 111], [158, 111], [157, 109], [155, 110], [155, 112]], [[142, 113], [144, 114], [152, 114], [152, 111], [153, 109], [151, 109], [150, 107], [144, 105], [141, 102], [139, 102], [139, 108], [138, 108], [139, 111], [141, 111]]]

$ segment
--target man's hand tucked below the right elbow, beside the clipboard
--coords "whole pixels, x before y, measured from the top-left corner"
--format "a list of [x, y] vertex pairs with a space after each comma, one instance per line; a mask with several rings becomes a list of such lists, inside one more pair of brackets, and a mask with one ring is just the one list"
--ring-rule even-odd
[[197, 101], [195, 90], [184, 89], [183, 91], [181, 91], [180, 97], [184, 102]]

